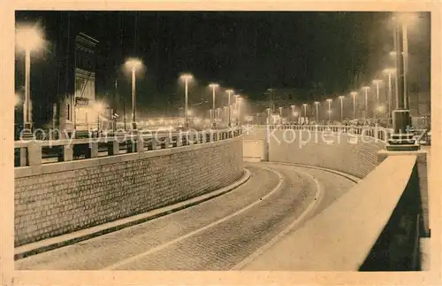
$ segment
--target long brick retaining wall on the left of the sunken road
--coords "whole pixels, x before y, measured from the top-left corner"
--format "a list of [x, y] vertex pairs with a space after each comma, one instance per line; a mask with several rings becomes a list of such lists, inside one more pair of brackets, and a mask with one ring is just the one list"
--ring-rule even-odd
[[16, 168], [14, 242], [148, 212], [225, 187], [242, 174], [241, 137]]

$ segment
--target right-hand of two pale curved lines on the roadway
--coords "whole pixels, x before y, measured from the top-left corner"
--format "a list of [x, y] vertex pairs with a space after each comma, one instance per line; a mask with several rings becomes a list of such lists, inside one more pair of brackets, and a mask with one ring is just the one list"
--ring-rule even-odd
[[237, 265], [232, 267], [230, 270], [241, 270], [242, 268], [248, 266], [248, 264], [250, 264], [252, 261], [254, 261], [259, 256], [261, 256], [265, 251], [269, 250], [273, 244], [277, 243], [277, 241], [281, 237], [286, 236], [286, 234], [288, 234], [290, 231], [292, 231], [292, 229], [294, 227], [296, 227], [296, 225], [298, 225], [302, 220], [304, 220], [316, 208], [316, 206], [320, 204], [320, 202], [322, 201], [322, 199], [324, 197], [323, 196], [324, 191], [323, 191], [323, 187], [322, 187], [321, 183], [318, 182], [312, 174], [308, 174], [308, 173], [303, 172], [299, 169], [296, 170], [296, 172], [308, 176], [311, 180], [313, 180], [315, 182], [315, 184], [316, 184], [315, 198], [316, 199], [313, 199], [313, 201], [310, 203], [310, 205], [307, 207], [307, 209], [304, 211], [304, 213], [301, 213], [301, 215], [296, 220], [294, 220], [289, 226], [284, 228], [283, 231], [278, 233], [277, 236], [273, 237], [271, 239], [271, 241], [269, 241], [268, 243], [265, 243], [263, 246], [258, 248], [251, 255], [249, 255], [246, 259], [243, 259], [242, 261], [240, 261], [240, 263], [238, 263]]

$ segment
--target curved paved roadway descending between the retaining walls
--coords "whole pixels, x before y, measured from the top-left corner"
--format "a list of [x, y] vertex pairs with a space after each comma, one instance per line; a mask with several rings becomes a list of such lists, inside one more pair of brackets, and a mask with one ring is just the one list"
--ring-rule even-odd
[[307, 167], [258, 163], [247, 168], [251, 172], [248, 182], [223, 196], [131, 228], [17, 260], [15, 268], [235, 269], [269, 243], [278, 243], [278, 237], [287, 230], [308, 223], [315, 213], [354, 186], [339, 174]]

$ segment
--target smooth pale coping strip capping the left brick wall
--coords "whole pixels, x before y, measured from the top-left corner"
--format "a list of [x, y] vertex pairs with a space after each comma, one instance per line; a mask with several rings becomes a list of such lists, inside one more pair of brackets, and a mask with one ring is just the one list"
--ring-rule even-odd
[[86, 159], [73, 160], [67, 162], [47, 163], [39, 166], [19, 166], [15, 167], [14, 169], [14, 178], [17, 179], [17, 178], [34, 176], [39, 174], [53, 174], [57, 172], [77, 170], [91, 166], [103, 166], [107, 164], [132, 161], [141, 158], [154, 158], [159, 156], [171, 155], [179, 152], [202, 150], [204, 148], [211, 148], [225, 143], [230, 143], [236, 140], [242, 140], [241, 135], [210, 143], [198, 143], [198, 144], [179, 146], [168, 149], [143, 151], [140, 153], [133, 152], [128, 154], [114, 155], [114, 156], [86, 158]]

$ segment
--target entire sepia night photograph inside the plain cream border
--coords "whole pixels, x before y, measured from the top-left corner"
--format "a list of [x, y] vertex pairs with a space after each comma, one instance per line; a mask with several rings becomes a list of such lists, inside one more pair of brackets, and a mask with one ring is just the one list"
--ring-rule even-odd
[[16, 10], [14, 270], [437, 270], [433, 17]]

